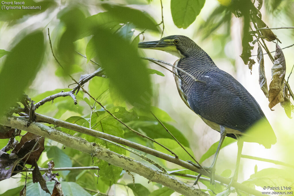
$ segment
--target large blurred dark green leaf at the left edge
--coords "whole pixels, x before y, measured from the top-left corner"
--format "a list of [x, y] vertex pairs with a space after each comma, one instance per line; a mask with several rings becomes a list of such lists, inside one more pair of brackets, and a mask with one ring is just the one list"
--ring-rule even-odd
[[[44, 56], [42, 31], [25, 36], [7, 55], [0, 73], [0, 116], [34, 80]], [[21, 82], [20, 82], [21, 81]]]

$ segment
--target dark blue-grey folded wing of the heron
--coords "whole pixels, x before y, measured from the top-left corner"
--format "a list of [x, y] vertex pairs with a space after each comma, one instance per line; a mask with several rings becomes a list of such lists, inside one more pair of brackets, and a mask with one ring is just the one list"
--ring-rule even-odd
[[187, 98], [192, 110], [203, 118], [243, 133], [265, 118], [253, 96], [225, 71], [214, 69], [198, 79], [206, 83], [191, 85]]

